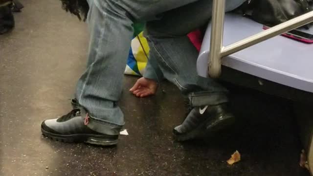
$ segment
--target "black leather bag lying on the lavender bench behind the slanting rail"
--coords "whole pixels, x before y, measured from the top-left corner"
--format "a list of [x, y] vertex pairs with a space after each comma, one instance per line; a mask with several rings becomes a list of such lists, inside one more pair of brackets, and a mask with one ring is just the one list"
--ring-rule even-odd
[[247, 0], [244, 15], [262, 24], [276, 25], [312, 11], [313, 0]]

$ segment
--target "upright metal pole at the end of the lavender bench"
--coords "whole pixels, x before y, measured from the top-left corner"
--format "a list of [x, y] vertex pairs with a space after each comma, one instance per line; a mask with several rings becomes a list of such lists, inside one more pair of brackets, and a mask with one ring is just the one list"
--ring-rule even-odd
[[209, 55], [209, 75], [217, 78], [221, 74], [221, 51], [223, 47], [225, 0], [213, 0], [212, 29]]

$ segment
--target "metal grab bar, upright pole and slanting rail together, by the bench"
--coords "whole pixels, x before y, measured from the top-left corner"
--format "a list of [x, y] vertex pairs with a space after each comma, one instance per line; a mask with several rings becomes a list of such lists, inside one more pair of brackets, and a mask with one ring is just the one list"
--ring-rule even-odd
[[313, 11], [304, 15], [283, 22], [268, 30], [250, 36], [234, 44], [223, 46], [224, 33], [224, 15], [225, 15], [225, 0], [213, 0], [212, 7], [212, 28], [210, 41], [210, 54], [208, 62], [208, 73], [212, 78], [217, 78], [221, 75], [222, 58], [243, 50], [254, 44], [258, 44], [272, 37], [298, 28], [307, 23], [313, 22]]

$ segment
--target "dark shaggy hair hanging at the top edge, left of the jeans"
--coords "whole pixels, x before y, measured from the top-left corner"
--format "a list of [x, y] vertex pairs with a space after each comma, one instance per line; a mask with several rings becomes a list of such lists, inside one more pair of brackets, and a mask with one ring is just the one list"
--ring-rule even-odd
[[78, 17], [79, 20], [85, 21], [89, 11], [87, 0], [61, 0], [62, 8]]

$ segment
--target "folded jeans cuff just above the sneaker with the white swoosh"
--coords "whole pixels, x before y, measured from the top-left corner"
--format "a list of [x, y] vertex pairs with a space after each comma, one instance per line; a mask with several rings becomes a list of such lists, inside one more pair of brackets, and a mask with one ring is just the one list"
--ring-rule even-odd
[[214, 106], [228, 102], [225, 92], [194, 92], [188, 95], [192, 107]]

